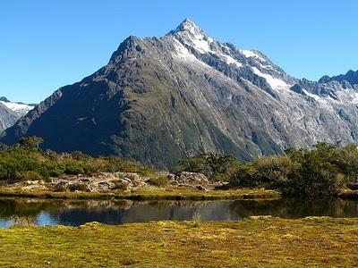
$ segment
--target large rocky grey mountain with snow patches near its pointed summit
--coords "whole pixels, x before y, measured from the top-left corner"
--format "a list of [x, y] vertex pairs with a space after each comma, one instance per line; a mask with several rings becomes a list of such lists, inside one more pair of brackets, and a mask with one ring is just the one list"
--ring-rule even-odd
[[210, 38], [191, 20], [161, 38], [129, 37], [109, 63], [4, 131], [44, 148], [115, 154], [160, 167], [218, 150], [242, 161], [358, 138], [358, 89], [289, 76], [257, 50]]

